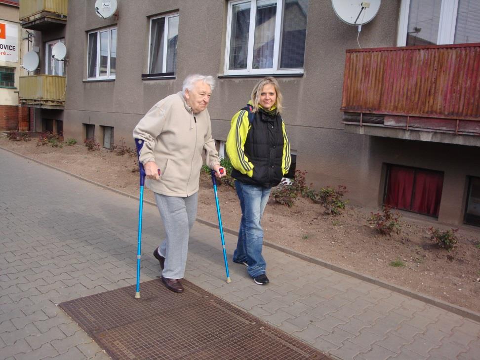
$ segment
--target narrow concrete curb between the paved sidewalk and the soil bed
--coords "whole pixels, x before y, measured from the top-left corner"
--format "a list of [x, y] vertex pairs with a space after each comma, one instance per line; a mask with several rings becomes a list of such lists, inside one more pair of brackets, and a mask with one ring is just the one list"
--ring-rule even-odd
[[[136, 199], [136, 200], [140, 200], [139, 197], [137, 196], [134, 196], [134, 195], [131, 195], [131, 194], [128, 194], [128, 193], [125, 193], [123, 191], [120, 191], [120, 190], [116, 190], [116, 189], [113, 189], [109, 186], [106, 186], [106, 185], [103, 185], [103, 184], [100, 184], [100, 183], [97, 183], [95, 181], [92, 181], [92, 180], [89, 180], [89, 179], [86, 179], [82, 176], [79, 176], [79, 175], [76, 175], [76, 174], [73, 174], [71, 172], [68, 172], [66, 170], [63, 170], [63, 169], [60, 169], [56, 166], [53, 166], [53, 165], [50, 165], [50, 164], [47, 164], [45, 162], [42, 162], [42, 161], [39, 161], [39, 160], [35, 160], [35, 159], [32, 159], [26, 155], [23, 155], [23, 154], [20, 154], [20, 153], [17, 153], [15, 151], [12, 151], [12, 150], [9, 150], [9, 149], [6, 149], [6, 148], [3, 148], [0, 146], [0, 149], [2, 150], [5, 150], [9, 153], [12, 153], [12, 154], [15, 154], [17, 156], [20, 156], [24, 159], [28, 159], [28, 160], [31, 160], [31, 161], [34, 161], [34, 162], [37, 162], [41, 165], [44, 165], [44, 166], [47, 166], [47, 167], [50, 167], [52, 169], [55, 169], [55, 170], [58, 170], [60, 172], [63, 172], [67, 175], [70, 175], [70, 176], [73, 176], [77, 179], [80, 179], [82, 181], [86, 181], [90, 184], [93, 184], [93, 185], [96, 185], [96, 186], [99, 186], [101, 188], [104, 188], [106, 190], [110, 190], [110, 191], [113, 191], [117, 194], [120, 194], [120, 195], [123, 195], [123, 196], [126, 196], [128, 198], [132, 198], [132, 199]], [[144, 200], [144, 202], [150, 204], [150, 205], [153, 205], [153, 206], [157, 206], [155, 202], [153, 201], [149, 201], [149, 200]], [[200, 219], [200, 218], [197, 218], [196, 219], [199, 223], [201, 224], [204, 224], [204, 225], [207, 225], [207, 226], [210, 226], [210, 227], [213, 227], [213, 228], [216, 228], [218, 229], [218, 224], [215, 224], [215, 223], [212, 223], [212, 222], [209, 222], [209, 221], [206, 221], [206, 220], [203, 220], [203, 219]], [[235, 231], [235, 230], [232, 230], [232, 229], [228, 229], [228, 228], [223, 228], [224, 232], [226, 233], [229, 233], [229, 234], [232, 234], [232, 235], [235, 235], [235, 236], [238, 236], [238, 232]], [[457, 306], [457, 305], [453, 305], [453, 304], [450, 304], [450, 303], [447, 303], [445, 301], [442, 301], [442, 300], [439, 300], [439, 299], [436, 299], [436, 298], [433, 298], [433, 297], [430, 297], [430, 296], [427, 296], [427, 295], [424, 295], [424, 294], [421, 294], [421, 293], [418, 293], [418, 292], [415, 292], [415, 291], [412, 291], [412, 290], [409, 290], [409, 289], [406, 289], [404, 287], [401, 287], [401, 286], [398, 286], [398, 285], [394, 285], [394, 284], [391, 284], [389, 282], [386, 282], [386, 281], [383, 281], [383, 280], [379, 280], [379, 279], [376, 279], [376, 278], [373, 278], [373, 277], [370, 277], [368, 275], [363, 275], [363, 274], [360, 274], [360, 273], [356, 273], [355, 271], [352, 271], [352, 270], [348, 270], [348, 269], [344, 269], [340, 266], [337, 266], [337, 265], [334, 265], [334, 264], [331, 264], [329, 262], [326, 262], [326, 261], [323, 261], [321, 259], [318, 259], [318, 258], [315, 258], [315, 257], [311, 257], [311, 256], [307, 256], [307, 255], [304, 255], [302, 253], [299, 253], [293, 249], [290, 249], [288, 247], [285, 247], [285, 246], [280, 246], [278, 244], [274, 244], [274, 243], [271, 243], [271, 242], [268, 242], [268, 241], [265, 241], [263, 242], [266, 246], [269, 246], [269, 247], [272, 247], [276, 250], [279, 250], [283, 253], [286, 253], [286, 254], [289, 254], [289, 255], [292, 255], [292, 256], [295, 256], [299, 259], [302, 259], [302, 260], [305, 260], [305, 261], [308, 261], [310, 263], [313, 263], [313, 264], [316, 264], [316, 265], [320, 265], [322, 267], [325, 267], [327, 269], [330, 269], [332, 271], [335, 271], [335, 272], [338, 272], [338, 273], [341, 273], [341, 274], [345, 274], [345, 275], [348, 275], [348, 276], [351, 276], [351, 277], [354, 277], [356, 279], [359, 279], [359, 280], [363, 280], [363, 281], [366, 281], [366, 282], [369, 282], [369, 283], [372, 283], [372, 284], [375, 284], [377, 286], [381, 286], [383, 288], [386, 288], [386, 289], [389, 289], [391, 291], [395, 291], [395, 292], [398, 292], [402, 295], [405, 295], [405, 296], [409, 296], [413, 299], [416, 299], [416, 300], [420, 300], [420, 301], [423, 301], [424, 303], [427, 303], [427, 304], [430, 304], [430, 305], [434, 305], [440, 309], [443, 309], [443, 310], [446, 310], [446, 311], [449, 311], [451, 313], [454, 313], [454, 314], [457, 314], [457, 315], [460, 315], [464, 318], [468, 318], [468, 319], [471, 319], [471, 320], [474, 320], [474, 321], [477, 321], [477, 322], [480, 322], [480, 313], [477, 313], [477, 312], [474, 312], [472, 310], [469, 310], [469, 309], [466, 309], [466, 308], [463, 308], [463, 307], [460, 307], [460, 306]]]

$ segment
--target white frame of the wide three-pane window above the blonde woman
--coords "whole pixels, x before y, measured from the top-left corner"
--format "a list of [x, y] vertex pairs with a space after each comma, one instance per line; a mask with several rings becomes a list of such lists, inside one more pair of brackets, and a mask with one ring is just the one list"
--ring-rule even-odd
[[[232, 8], [234, 5], [250, 2], [250, 28], [248, 32], [248, 54], [246, 69], [229, 70], [230, 63], [230, 35], [232, 32]], [[255, 40], [255, 11], [257, 9], [257, 0], [234, 0], [228, 3], [227, 12], [227, 41], [225, 46], [225, 66], [224, 75], [281, 75], [281, 74], [303, 74], [304, 68], [279, 69], [280, 58], [280, 39], [281, 23], [283, 20], [284, 0], [277, 0], [277, 14], [275, 18], [275, 41], [273, 53], [272, 69], [252, 69], [253, 64], [253, 44]], [[307, 47], [305, 46], [305, 52]]]

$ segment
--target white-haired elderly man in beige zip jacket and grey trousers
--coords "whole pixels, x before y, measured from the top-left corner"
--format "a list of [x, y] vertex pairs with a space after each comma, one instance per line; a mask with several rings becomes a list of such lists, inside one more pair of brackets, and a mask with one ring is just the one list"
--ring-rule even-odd
[[[155, 200], [165, 228], [165, 240], [155, 249], [161, 281], [171, 291], [182, 292], [189, 232], [197, 215], [202, 152], [217, 177], [221, 168], [211, 136], [206, 110], [214, 87], [211, 76], [190, 75], [183, 90], [155, 104], [138, 122], [133, 137], [144, 140], [139, 160], [145, 167], [146, 185]], [[158, 169], [161, 170], [159, 176]]]

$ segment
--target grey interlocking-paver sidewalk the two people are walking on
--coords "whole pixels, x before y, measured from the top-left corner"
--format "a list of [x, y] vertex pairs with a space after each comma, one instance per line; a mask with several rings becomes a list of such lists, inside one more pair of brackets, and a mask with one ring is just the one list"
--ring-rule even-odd
[[[0, 359], [109, 359], [56, 304], [135, 283], [138, 201], [1, 149], [0, 169]], [[143, 219], [146, 281], [156, 207]], [[230, 259], [227, 284], [218, 230], [200, 223], [189, 249], [187, 280], [338, 359], [480, 359], [473, 320], [269, 247], [269, 285]]]

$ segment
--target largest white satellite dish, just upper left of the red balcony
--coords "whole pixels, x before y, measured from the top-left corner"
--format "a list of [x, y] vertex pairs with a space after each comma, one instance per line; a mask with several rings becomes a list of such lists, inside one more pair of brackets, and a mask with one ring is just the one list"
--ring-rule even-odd
[[370, 22], [380, 8], [380, 0], [332, 0], [333, 11], [349, 25], [362, 25]]

